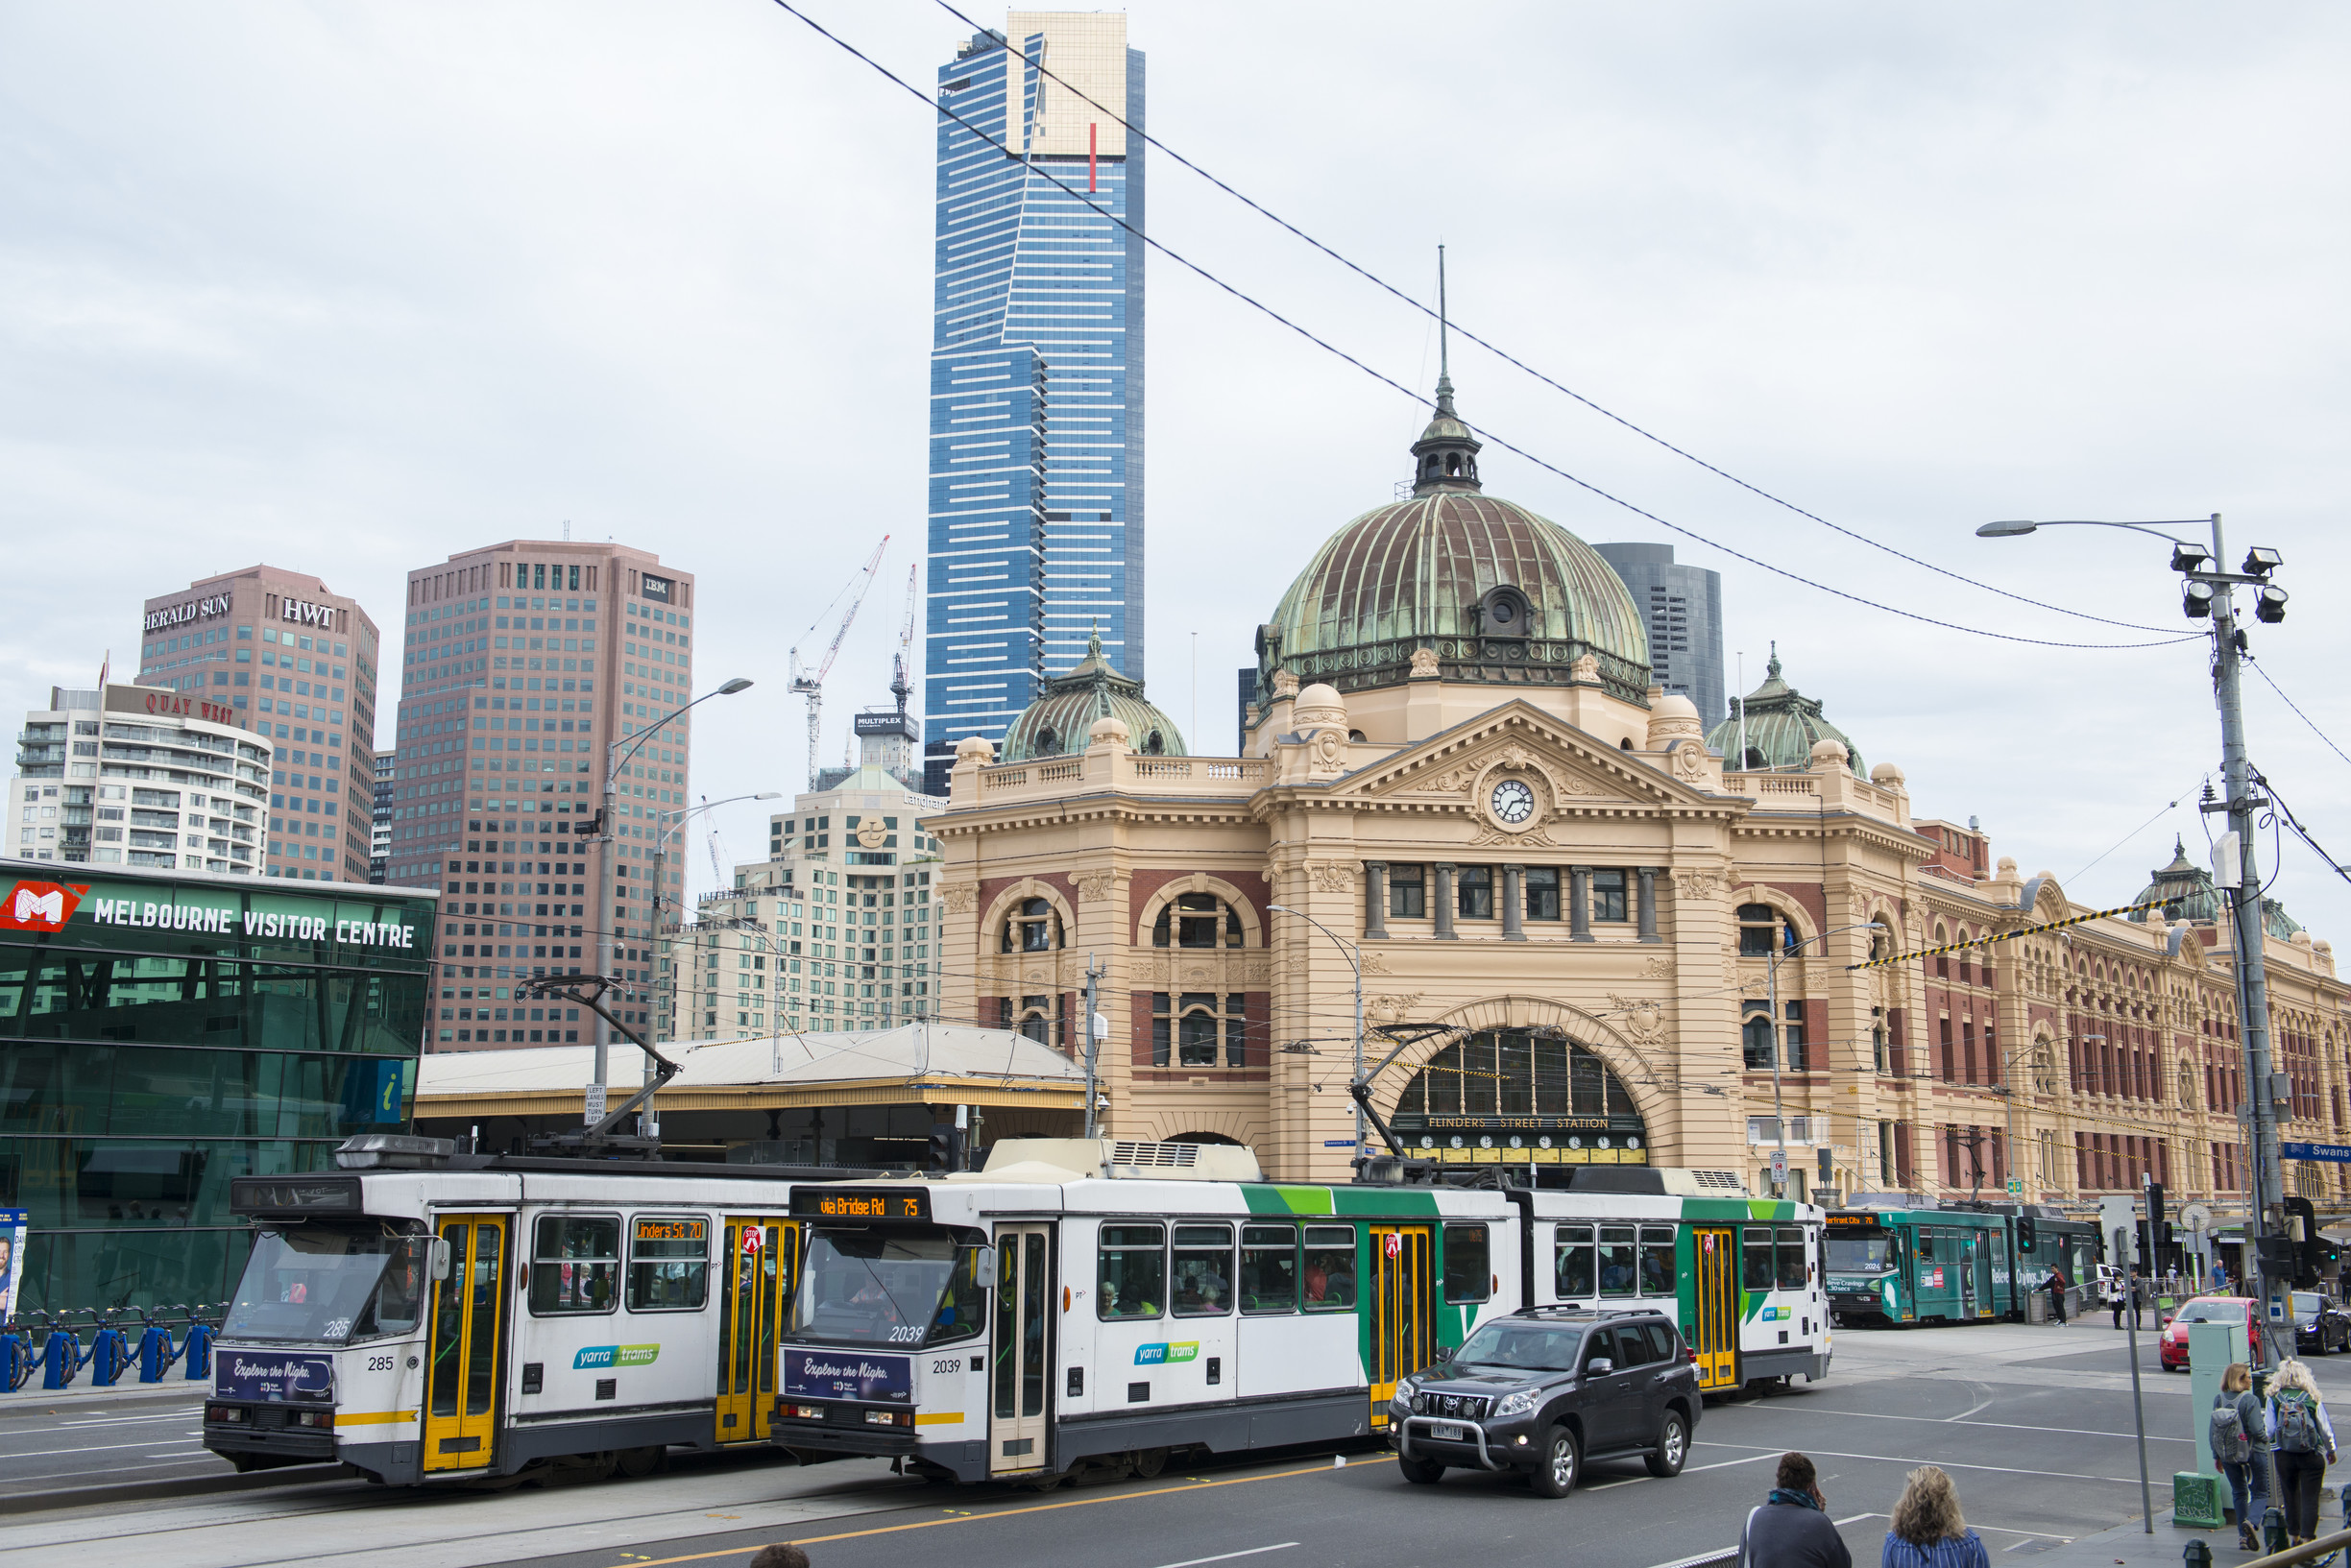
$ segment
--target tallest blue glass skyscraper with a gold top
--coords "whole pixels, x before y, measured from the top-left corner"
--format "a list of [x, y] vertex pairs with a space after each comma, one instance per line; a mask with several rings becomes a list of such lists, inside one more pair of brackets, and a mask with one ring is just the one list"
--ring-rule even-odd
[[[1056, 80], [1058, 78], [1058, 80]], [[1091, 101], [1089, 101], [1091, 99]], [[1011, 12], [938, 71], [924, 776], [1100, 630], [1143, 679], [1143, 54]]]

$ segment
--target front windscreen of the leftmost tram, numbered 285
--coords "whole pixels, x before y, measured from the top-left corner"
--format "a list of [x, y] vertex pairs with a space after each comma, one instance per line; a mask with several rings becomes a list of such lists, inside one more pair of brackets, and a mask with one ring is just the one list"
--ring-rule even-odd
[[409, 1333], [423, 1314], [430, 1237], [303, 1225], [254, 1237], [221, 1335], [341, 1345]]

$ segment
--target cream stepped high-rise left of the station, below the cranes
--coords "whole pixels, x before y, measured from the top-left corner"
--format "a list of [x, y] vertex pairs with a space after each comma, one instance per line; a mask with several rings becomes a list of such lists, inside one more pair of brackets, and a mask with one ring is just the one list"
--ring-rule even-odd
[[[858, 715], [856, 769], [769, 818], [766, 860], [734, 867], [691, 922], [663, 919], [661, 1039], [889, 1030], [938, 1016], [938, 842], [922, 818], [947, 802], [907, 780], [912, 745]], [[882, 733], [877, 733], [882, 731]]]

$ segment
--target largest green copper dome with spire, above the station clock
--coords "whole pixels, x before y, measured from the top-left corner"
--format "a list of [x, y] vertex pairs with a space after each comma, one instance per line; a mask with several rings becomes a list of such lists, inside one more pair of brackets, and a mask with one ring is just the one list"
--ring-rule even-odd
[[1258, 628], [1260, 691], [1274, 670], [1396, 686], [1422, 649], [1446, 679], [1563, 686], [1592, 654], [1601, 686], [1648, 703], [1648, 630], [1625, 581], [1556, 522], [1481, 494], [1476, 451], [1441, 381], [1411, 498], [1333, 534]]

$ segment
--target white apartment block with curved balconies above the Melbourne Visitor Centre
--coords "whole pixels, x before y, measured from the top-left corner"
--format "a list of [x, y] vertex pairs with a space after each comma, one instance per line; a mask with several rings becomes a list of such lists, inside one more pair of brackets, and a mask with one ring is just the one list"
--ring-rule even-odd
[[68, 865], [259, 872], [273, 745], [226, 701], [158, 686], [49, 689], [7, 792], [7, 853]]

